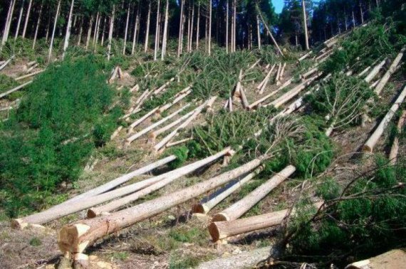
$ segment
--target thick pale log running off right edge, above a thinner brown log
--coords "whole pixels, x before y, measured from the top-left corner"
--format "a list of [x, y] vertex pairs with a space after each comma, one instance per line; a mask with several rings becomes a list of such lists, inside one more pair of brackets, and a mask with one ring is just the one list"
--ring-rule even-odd
[[402, 92], [400, 95], [397, 97], [395, 102], [393, 103], [392, 107], [390, 107], [390, 110], [387, 112], [385, 117], [382, 119], [378, 127], [375, 129], [375, 132], [368, 138], [367, 142], [365, 142], [364, 147], [363, 147], [363, 152], [373, 152], [373, 147], [375, 147], [375, 144], [378, 142], [380, 137], [382, 136], [383, 131], [389, 125], [390, 120], [392, 120], [393, 115], [395, 115], [397, 109], [399, 108], [400, 104], [405, 100], [406, 97], [406, 86], [403, 88]]

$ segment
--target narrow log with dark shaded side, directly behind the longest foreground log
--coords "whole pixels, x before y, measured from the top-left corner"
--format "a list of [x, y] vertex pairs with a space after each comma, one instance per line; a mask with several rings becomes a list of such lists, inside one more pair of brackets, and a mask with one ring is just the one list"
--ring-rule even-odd
[[224, 188], [219, 189], [219, 191], [214, 192], [214, 194], [211, 194], [207, 198], [200, 201], [199, 204], [194, 204], [192, 206], [192, 213], [208, 213], [214, 208], [214, 206], [217, 206], [217, 204], [230, 196], [234, 191], [240, 189], [241, 186], [253, 179], [254, 176], [262, 172], [262, 170], [264, 170], [264, 167], [260, 166], [254, 172], [247, 174], [242, 179], [231, 181], [227, 186], [224, 186]]

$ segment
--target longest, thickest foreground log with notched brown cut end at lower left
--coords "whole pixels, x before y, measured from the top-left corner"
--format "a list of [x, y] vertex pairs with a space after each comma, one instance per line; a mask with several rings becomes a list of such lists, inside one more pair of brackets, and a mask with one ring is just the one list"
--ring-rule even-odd
[[241, 174], [255, 169], [261, 164], [261, 159], [254, 159], [212, 179], [194, 184], [172, 194], [160, 196], [145, 203], [123, 209], [108, 216], [90, 218], [72, 223], [61, 228], [58, 233], [58, 246], [62, 253], [83, 253], [83, 250], [104, 236], [120, 231], [134, 223], [155, 216], [163, 211], [182, 204], [227, 182]]

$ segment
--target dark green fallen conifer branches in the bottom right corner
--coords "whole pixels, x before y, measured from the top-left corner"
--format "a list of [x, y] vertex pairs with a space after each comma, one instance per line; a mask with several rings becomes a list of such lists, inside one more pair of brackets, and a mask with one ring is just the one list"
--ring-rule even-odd
[[[300, 228], [300, 233], [293, 237], [291, 251], [325, 255], [326, 260], [331, 253], [334, 257], [350, 253], [360, 260], [405, 244], [406, 190], [401, 187], [406, 182], [405, 159], [395, 167], [379, 156], [375, 163], [372, 173], [353, 179], [345, 191], [339, 191], [331, 179], [323, 179], [318, 194], [327, 207], [316, 220], [309, 221], [311, 214], [294, 218], [291, 229]], [[338, 259], [340, 264], [343, 258]]]

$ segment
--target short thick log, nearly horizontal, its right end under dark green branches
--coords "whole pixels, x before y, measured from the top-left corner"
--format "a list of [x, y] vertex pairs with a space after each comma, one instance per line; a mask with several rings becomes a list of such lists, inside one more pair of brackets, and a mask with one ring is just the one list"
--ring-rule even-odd
[[[316, 203], [315, 206], [319, 209], [323, 202]], [[292, 211], [293, 213], [294, 211]], [[230, 236], [236, 236], [241, 233], [249, 233], [252, 231], [269, 228], [282, 223], [283, 219], [289, 213], [288, 209], [274, 211], [258, 216], [248, 218], [235, 219], [233, 221], [217, 221], [210, 223], [208, 229], [212, 241], [216, 242]]]

